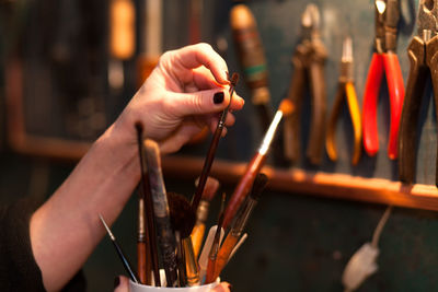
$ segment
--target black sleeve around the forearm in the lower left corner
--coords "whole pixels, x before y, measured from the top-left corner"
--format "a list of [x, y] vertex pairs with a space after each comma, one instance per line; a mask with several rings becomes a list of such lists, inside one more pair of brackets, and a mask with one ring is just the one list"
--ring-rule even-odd
[[[0, 207], [0, 291], [46, 291], [42, 272], [32, 253], [28, 222], [37, 205], [21, 199]], [[85, 280], [79, 272], [62, 290], [85, 291]]]

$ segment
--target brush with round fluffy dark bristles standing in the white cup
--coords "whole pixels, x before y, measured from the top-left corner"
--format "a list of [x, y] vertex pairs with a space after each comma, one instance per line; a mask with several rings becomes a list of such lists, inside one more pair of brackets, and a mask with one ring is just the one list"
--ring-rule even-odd
[[[195, 212], [186, 197], [176, 192], [168, 192], [171, 223], [181, 237], [181, 253], [184, 255], [180, 267], [180, 283], [182, 287], [199, 284], [199, 267], [193, 252], [191, 231], [196, 220]], [[183, 272], [183, 275], [181, 273]], [[182, 279], [184, 278], [184, 279]]]

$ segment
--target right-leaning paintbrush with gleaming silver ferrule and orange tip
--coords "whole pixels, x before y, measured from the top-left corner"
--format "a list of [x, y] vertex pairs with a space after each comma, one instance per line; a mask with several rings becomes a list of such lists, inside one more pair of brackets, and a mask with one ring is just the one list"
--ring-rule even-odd
[[283, 100], [280, 106], [277, 109], [277, 113], [274, 116], [273, 121], [267, 129], [265, 137], [263, 138], [262, 144], [258, 148], [257, 153], [254, 155], [252, 161], [249, 163], [245, 173], [239, 182], [239, 185], [234, 189], [233, 195], [227, 206], [223, 215], [223, 230], [227, 230], [228, 225], [231, 223], [234, 218], [237, 211], [242, 205], [243, 200], [246, 198], [247, 194], [251, 190], [251, 186], [255, 179], [255, 176], [261, 171], [262, 166], [265, 163], [267, 151], [269, 150], [269, 145], [274, 139], [275, 132], [278, 128], [278, 125], [284, 116], [288, 116], [293, 112], [293, 104], [289, 100]]

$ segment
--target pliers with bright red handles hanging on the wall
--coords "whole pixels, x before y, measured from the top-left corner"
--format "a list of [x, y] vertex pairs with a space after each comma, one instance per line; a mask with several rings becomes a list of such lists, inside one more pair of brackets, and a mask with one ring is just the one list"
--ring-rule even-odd
[[400, 116], [402, 114], [404, 84], [396, 49], [396, 33], [400, 19], [400, 0], [376, 0], [376, 37], [371, 65], [365, 85], [362, 125], [364, 147], [368, 155], [373, 156], [379, 151], [377, 130], [377, 101], [382, 81], [383, 70], [387, 73], [390, 94], [390, 137], [388, 155], [391, 160], [397, 157], [397, 137]]

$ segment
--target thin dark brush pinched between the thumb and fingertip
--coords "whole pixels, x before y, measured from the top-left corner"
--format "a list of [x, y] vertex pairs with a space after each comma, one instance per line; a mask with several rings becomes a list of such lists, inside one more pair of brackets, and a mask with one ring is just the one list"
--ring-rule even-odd
[[206, 156], [206, 160], [204, 162], [203, 171], [200, 172], [199, 183], [198, 183], [198, 186], [196, 188], [195, 195], [194, 195], [194, 197], [192, 199], [192, 208], [195, 211], [198, 209], [199, 201], [200, 201], [200, 198], [203, 196], [204, 187], [205, 187], [205, 184], [207, 182], [208, 174], [210, 173], [212, 161], [214, 161], [215, 154], [216, 154], [216, 149], [218, 148], [219, 139], [222, 136], [222, 129], [223, 129], [223, 127], [226, 125], [227, 114], [228, 114], [228, 110], [230, 108], [231, 101], [232, 101], [232, 95], [234, 93], [234, 87], [238, 84], [238, 81], [239, 81], [239, 74], [238, 73], [233, 73], [232, 77], [231, 77], [231, 80], [230, 80], [230, 103], [228, 104], [226, 109], [222, 110], [222, 114], [220, 116], [218, 126], [216, 127], [215, 135], [212, 136], [211, 142], [210, 142], [210, 147], [208, 149], [207, 156]]

